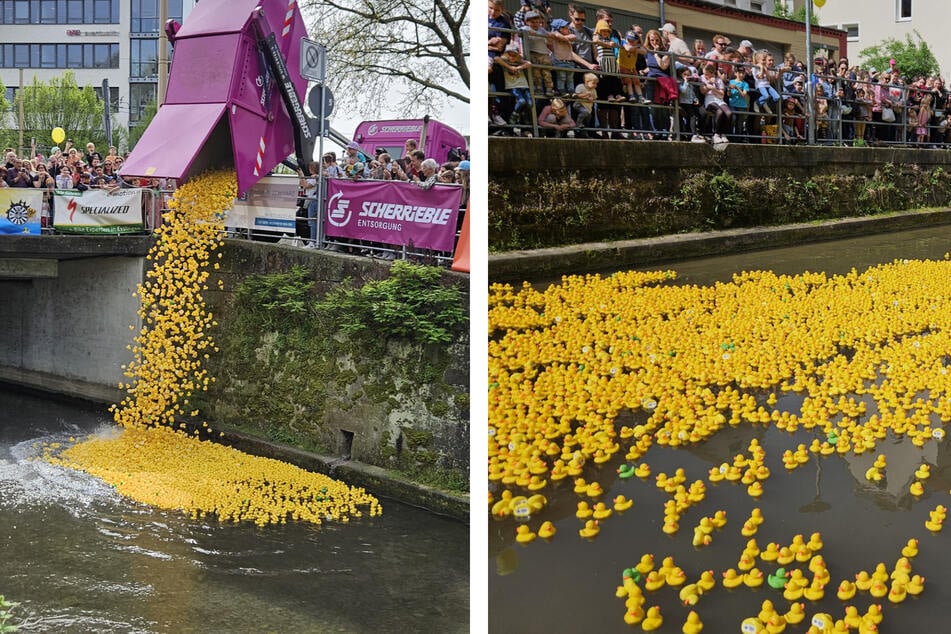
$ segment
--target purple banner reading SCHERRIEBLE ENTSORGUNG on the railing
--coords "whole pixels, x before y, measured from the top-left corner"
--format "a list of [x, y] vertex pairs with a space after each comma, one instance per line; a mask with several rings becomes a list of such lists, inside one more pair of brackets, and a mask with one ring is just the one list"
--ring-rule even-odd
[[393, 181], [327, 181], [324, 232], [420, 249], [452, 251], [462, 188]]

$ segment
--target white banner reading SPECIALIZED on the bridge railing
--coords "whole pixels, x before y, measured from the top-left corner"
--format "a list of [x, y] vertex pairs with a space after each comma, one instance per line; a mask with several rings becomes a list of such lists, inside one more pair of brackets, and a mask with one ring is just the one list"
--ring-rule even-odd
[[58, 233], [143, 231], [141, 189], [53, 191], [53, 228]]

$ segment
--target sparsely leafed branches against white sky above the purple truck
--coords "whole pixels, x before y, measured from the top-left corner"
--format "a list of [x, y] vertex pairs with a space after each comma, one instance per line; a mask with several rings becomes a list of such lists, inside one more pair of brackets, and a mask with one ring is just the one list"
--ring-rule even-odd
[[308, 0], [337, 106], [406, 116], [469, 103], [469, 0]]

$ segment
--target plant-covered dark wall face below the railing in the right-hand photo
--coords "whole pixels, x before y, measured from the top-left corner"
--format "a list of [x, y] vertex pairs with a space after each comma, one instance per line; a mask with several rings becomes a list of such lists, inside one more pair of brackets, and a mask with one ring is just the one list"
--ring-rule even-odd
[[[744, 177], [684, 170], [676, 183], [539, 173], [489, 182], [489, 247], [512, 251], [865, 216], [948, 205], [940, 166], [883, 164], [871, 176]], [[524, 181], [524, 182], [523, 182]]]

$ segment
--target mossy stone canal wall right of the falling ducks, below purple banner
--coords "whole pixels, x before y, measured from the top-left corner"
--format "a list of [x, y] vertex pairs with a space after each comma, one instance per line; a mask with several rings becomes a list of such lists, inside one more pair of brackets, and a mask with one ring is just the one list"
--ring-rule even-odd
[[[209, 360], [216, 382], [196, 395], [203, 416], [272, 441], [399, 472], [462, 490], [469, 471], [469, 340], [415, 344], [387, 333], [350, 337], [330, 326], [248, 332], [235, 291], [251, 275], [303, 266], [323, 296], [351, 279], [385, 279], [389, 264], [240, 240], [226, 241], [218, 274], [223, 290], [207, 299], [220, 352]], [[463, 285], [452, 272], [444, 283]], [[217, 288], [213, 284], [212, 288]], [[308, 334], [309, 333], [309, 334]]]

